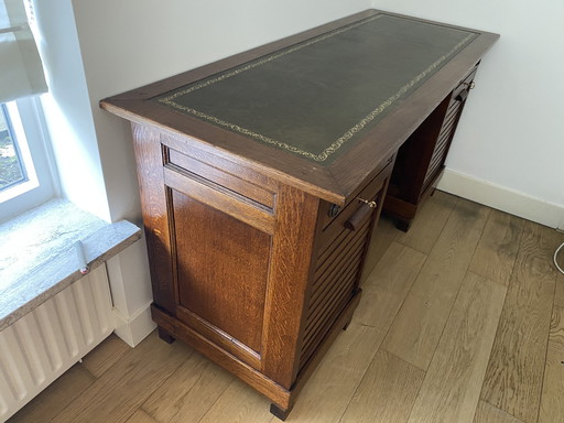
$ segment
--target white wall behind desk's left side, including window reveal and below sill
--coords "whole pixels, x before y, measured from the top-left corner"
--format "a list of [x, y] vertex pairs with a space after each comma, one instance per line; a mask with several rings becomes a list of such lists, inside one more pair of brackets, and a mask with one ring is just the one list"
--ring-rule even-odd
[[[108, 220], [140, 223], [129, 124], [100, 110], [100, 99], [369, 7], [370, 0], [36, 1], [65, 195]], [[144, 245], [110, 260], [108, 273], [117, 333], [134, 345], [152, 328]]]

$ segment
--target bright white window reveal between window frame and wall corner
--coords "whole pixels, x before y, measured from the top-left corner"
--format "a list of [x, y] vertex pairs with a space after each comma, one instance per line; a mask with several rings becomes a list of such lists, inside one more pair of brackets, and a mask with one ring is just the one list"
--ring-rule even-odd
[[63, 195], [109, 220], [98, 143], [69, 0], [36, 1], [39, 48], [50, 91], [41, 97]]

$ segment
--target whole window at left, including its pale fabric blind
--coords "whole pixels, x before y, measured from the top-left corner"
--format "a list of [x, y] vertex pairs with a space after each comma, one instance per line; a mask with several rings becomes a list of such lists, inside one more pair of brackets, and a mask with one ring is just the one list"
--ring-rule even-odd
[[33, 19], [30, 0], [0, 0], [0, 221], [54, 196]]

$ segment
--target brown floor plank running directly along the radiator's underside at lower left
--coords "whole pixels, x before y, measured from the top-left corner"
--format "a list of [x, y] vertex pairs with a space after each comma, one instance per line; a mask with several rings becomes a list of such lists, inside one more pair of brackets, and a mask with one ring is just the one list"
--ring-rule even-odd
[[94, 382], [95, 378], [86, 369], [75, 365], [8, 422], [50, 422]]

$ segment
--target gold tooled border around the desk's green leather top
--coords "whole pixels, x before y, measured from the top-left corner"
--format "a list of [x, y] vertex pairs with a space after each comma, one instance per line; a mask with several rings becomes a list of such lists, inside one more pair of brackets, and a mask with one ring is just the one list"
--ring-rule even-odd
[[362, 130], [362, 128], [365, 128], [369, 122], [371, 122], [378, 115], [382, 113], [388, 107], [390, 107], [402, 95], [408, 93], [408, 90], [410, 88], [412, 88], [415, 84], [417, 84], [421, 79], [423, 79], [425, 76], [427, 76], [430, 73], [432, 73], [436, 67], [438, 67], [443, 62], [445, 62], [454, 53], [456, 53], [464, 45], [466, 45], [471, 39], [474, 39], [476, 36], [476, 34], [475, 33], [468, 34], [463, 41], [460, 41], [458, 44], [456, 44], [448, 53], [443, 54], [435, 62], [433, 62], [433, 64], [431, 64], [426, 69], [424, 69], [421, 74], [415, 76], [408, 84], [403, 85], [393, 96], [391, 96], [386, 101], [383, 101], [381, 105], [379, 105], [376, 109], [370, 111], [370, 113], [368, 113], [362, 120], [360, 120], [357, 124], [355, 124], [352, 128], [350, 128], [348, 131], [346, 131], [341, 137], [339, 137], [336, 141], [334, 141], [328, 148], [326, 148], [319, 154], [315, 154], [315, 153], [312, 153], [312, 152], [308, 152], [308, 151], [304, 151], [304, 150], [302, 150], [302, 149], [300, 149], [300, 148], [297, 148], [295, 145], [291, 145], [291, 144], [288, 144], [288, 143], [282, 142], [282, 141], [273, 140], [273, 139], [271, 139], [269, 137], [265, 137], [265, 135], [262, 135], [260, 133], [253, 132], [250, 129], [242, 128], [242, 127], [240, 127], [238, 124], [227, 122], [227, 121], [225, 121], [223, 119], [219, 119], [219, 118], [217, 118], [215, 116], [209, 116], [209, 115], [206, 115], [206, 113], [204, 113], [202, 111], [198, 111], [196, 109], [189, 108], [187, 106], [178, 105], [174, 100], [177, 97], [181, 97], [181, 96], [184, 96], [184, 95], [189, 94], [192, 91], [195, 91], [197, 89], [207, 87], [207, 86], [209, 86], [212, 84], [215, 84], [217, 82], [220, 82], [223, 79], [230, 78], [231, 76], [239, 75], [239, 74], [241, 74], [241, 73], [243, 73], [246, 70], [249, 70], [249, 69], [252, 69], [253, 67], [263, 65], [264, 63], [271, 62], [271, 61], [273, 61], [275, 58], [279, 58], [279, 57], [282, 57], [282, 56], [284, 56], [286, 54], [296, 52], [296, 51], [299, 51], [301, 48], [304, 48], [304, 47], [310, 46], [312, 44], [315, 44], [315, 43], [318, 43], [321, 41], [327, 40], [327, 39], [329, 39], [332, 36], [340, 34], [343, 32], [349, 31], [349, 30], [351, 30], [354, 28], [364, 25], [364, 24], [366, 24], [368, 22], [372, 22], [372, 21], [375, 21], [375, 20], [377, 20], [377, 19], [379, 19], [381, 17], [384, 17], [384, 14], [377, 14], [375, 17], [368, 18], [368, 19], [366, 19], [364, 21], [360, 21], [360, 22], [357, 22], [355, 24], [351, 24], [351, 25], [348, 25], [348, 26], [344, 26], [344, 28], [341, 28], [339, 30], [335, 30], [335, 31], [329, 32], [329, 33], [327, 33], [325, 35], [318, 36], [316, 39], [312, 39], [312, 40], [310, 40], [307, 42], [304, 42], [304, 43], [297, 44], [297, 45], [295, 45], [295, 46], [293, 46], [291, 48], [284, 50], [284, 51], [280, 52], [280, 53], [272, 54], [272, 55], [270, 55], [268, 57], [261, 58], [260, 61], [252, 62], [252, 63], [250, 63], [250, 64], [248, 64], [248, 65], [246, 65], [243, 67], [240, 67], [238, 69], [228, 72], [228, 73], [223, 74], [223, 75], [220, 75], [218, 77], [215, 77], [215, 78], [208, 79], [206, 82], [196, 84], [196, 85], [194, 85], [194, 86], [192, 86], [189, 88], [176, 91], [176, 93], [174, 93], [174, 94], [172, 94], [170, 96], [159, 98], [158, 101], [162, 102], [162, 104], [165, 104], [165, 105], [167, 105], [167, 106], [170, 106], [172, 108], [180, 109], [180, 110], [183, 110], [183, 111], [188, 112], [191, 115], [194, 115], [194, 116], [196, 116], [198, 118], [202, 118], [202, 119], [208, 120], [210, 122], [217, 123], [219, 126], [229, 128], [232, 131], [236, 131], [236, 132], [239, 132], [239, 133], [252, 137], [252, 138], [254, 138], [257, 140], [260, 140], [262, 142], [265, 142], [265, 143], [269, 143], [269, 144], [276, 145], [280, 149], [290, 151], [290, 152], [295, 153], [295, 154], [300, 154], [302, 156], [305, 156], [307, 159], [314, 160], [316, 162], [324, 162], [332, 154], [334, 154], [340, 147], [343, 147], [343, 144], [345, 144], [348, 140], [350, 140], [357, 132]]

